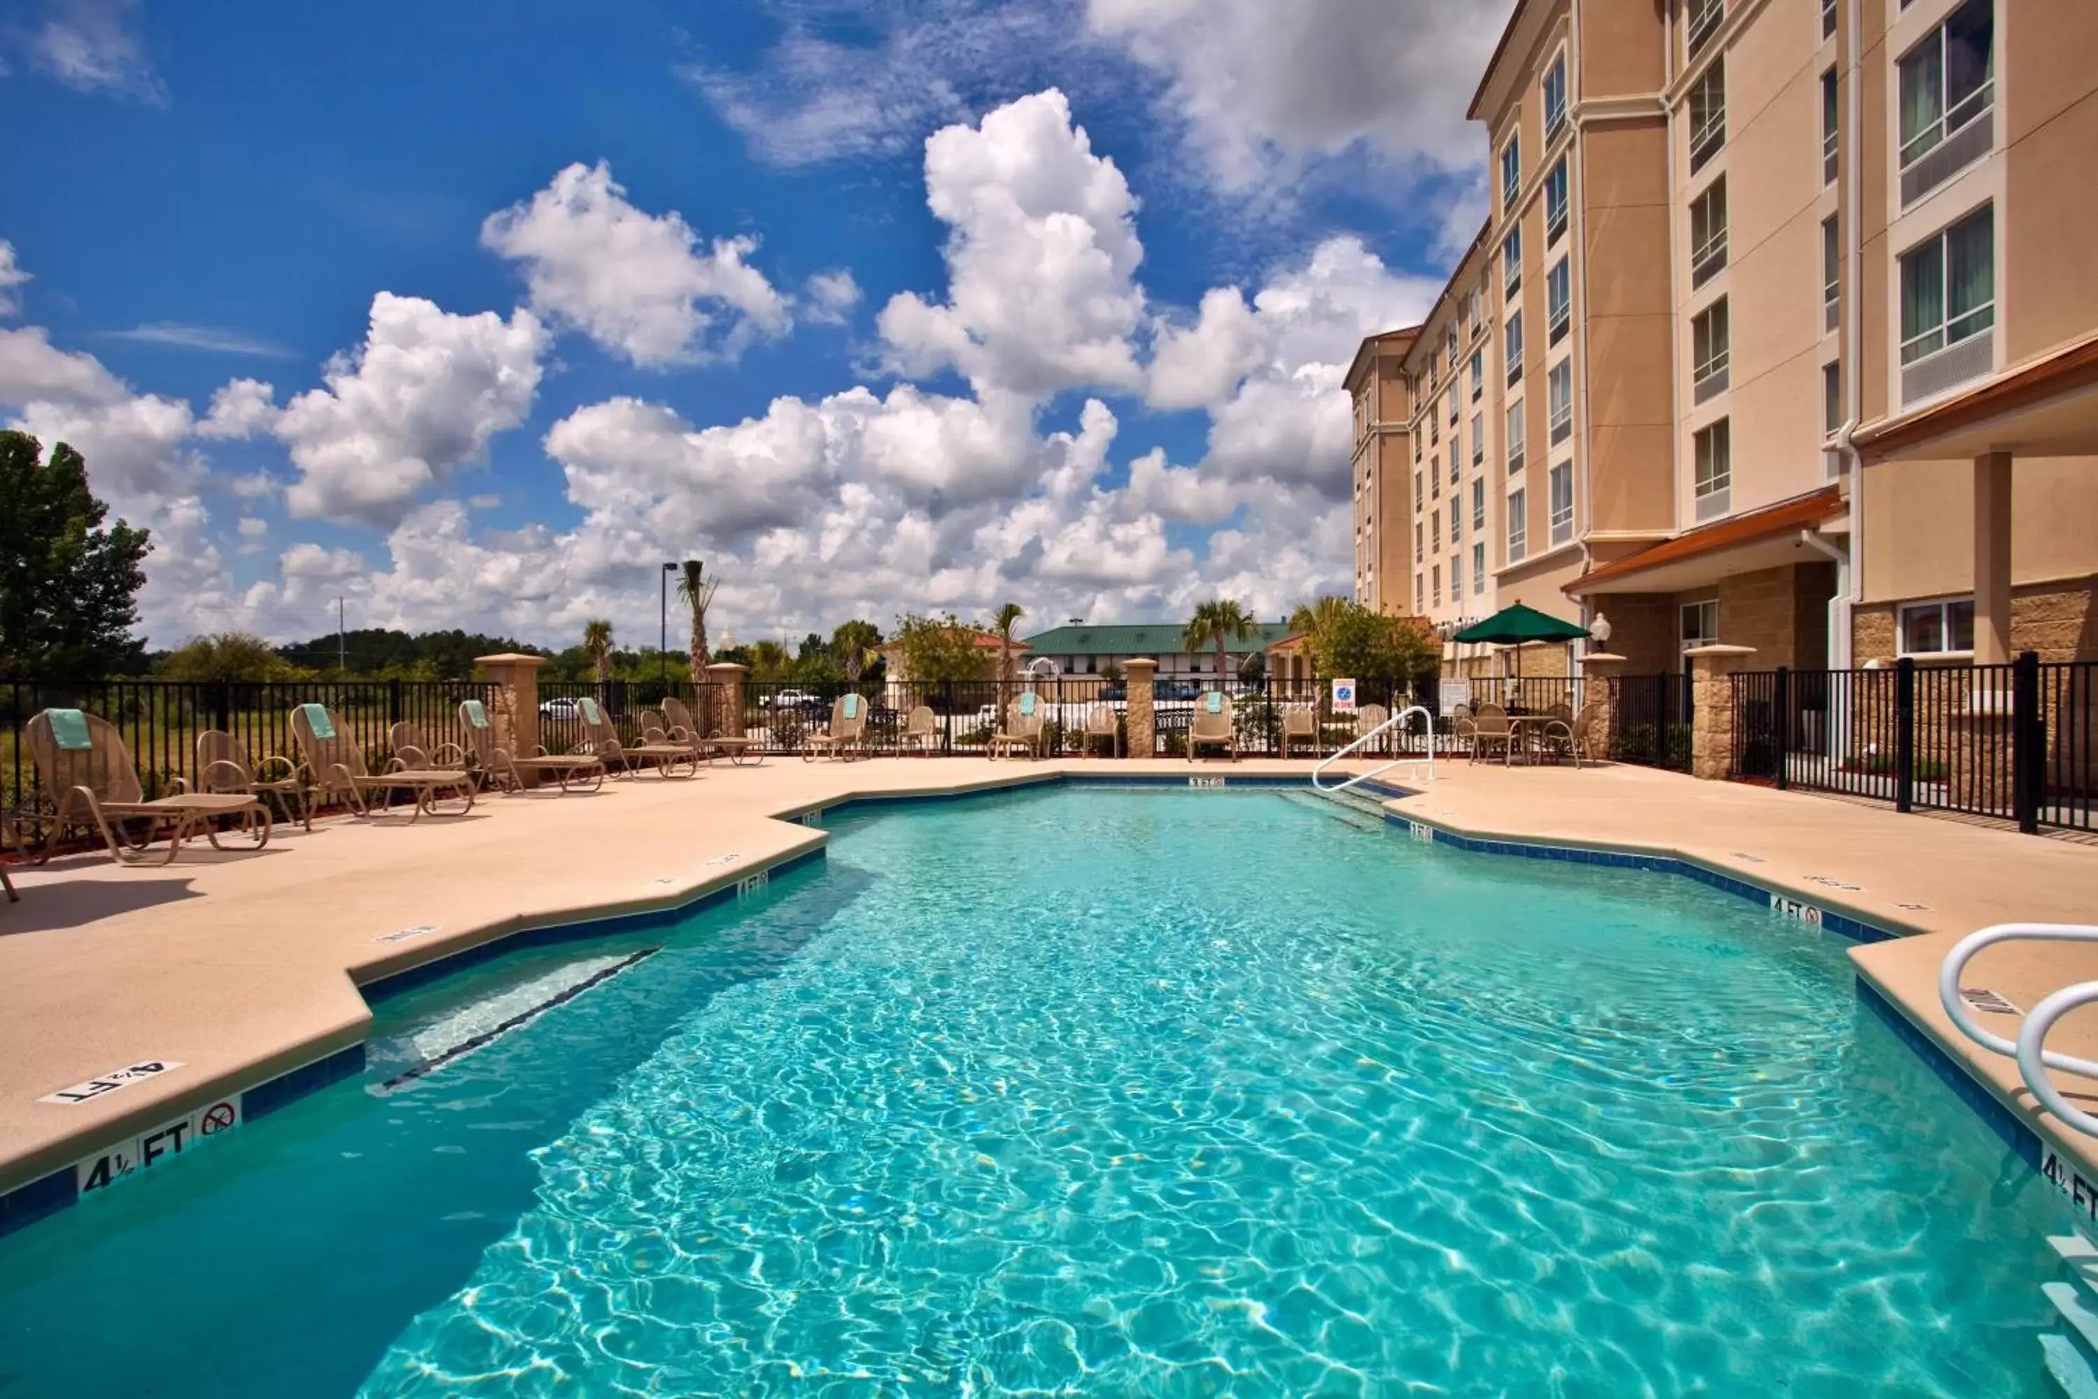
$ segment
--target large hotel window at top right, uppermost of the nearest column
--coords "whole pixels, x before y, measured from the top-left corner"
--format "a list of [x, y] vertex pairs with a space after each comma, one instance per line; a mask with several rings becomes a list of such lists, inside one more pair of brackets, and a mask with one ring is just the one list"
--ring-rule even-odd
[[1966, 0], [1901, 59], [1901, 201], [1915, 203], [1991, 151], [1995, 4]]

